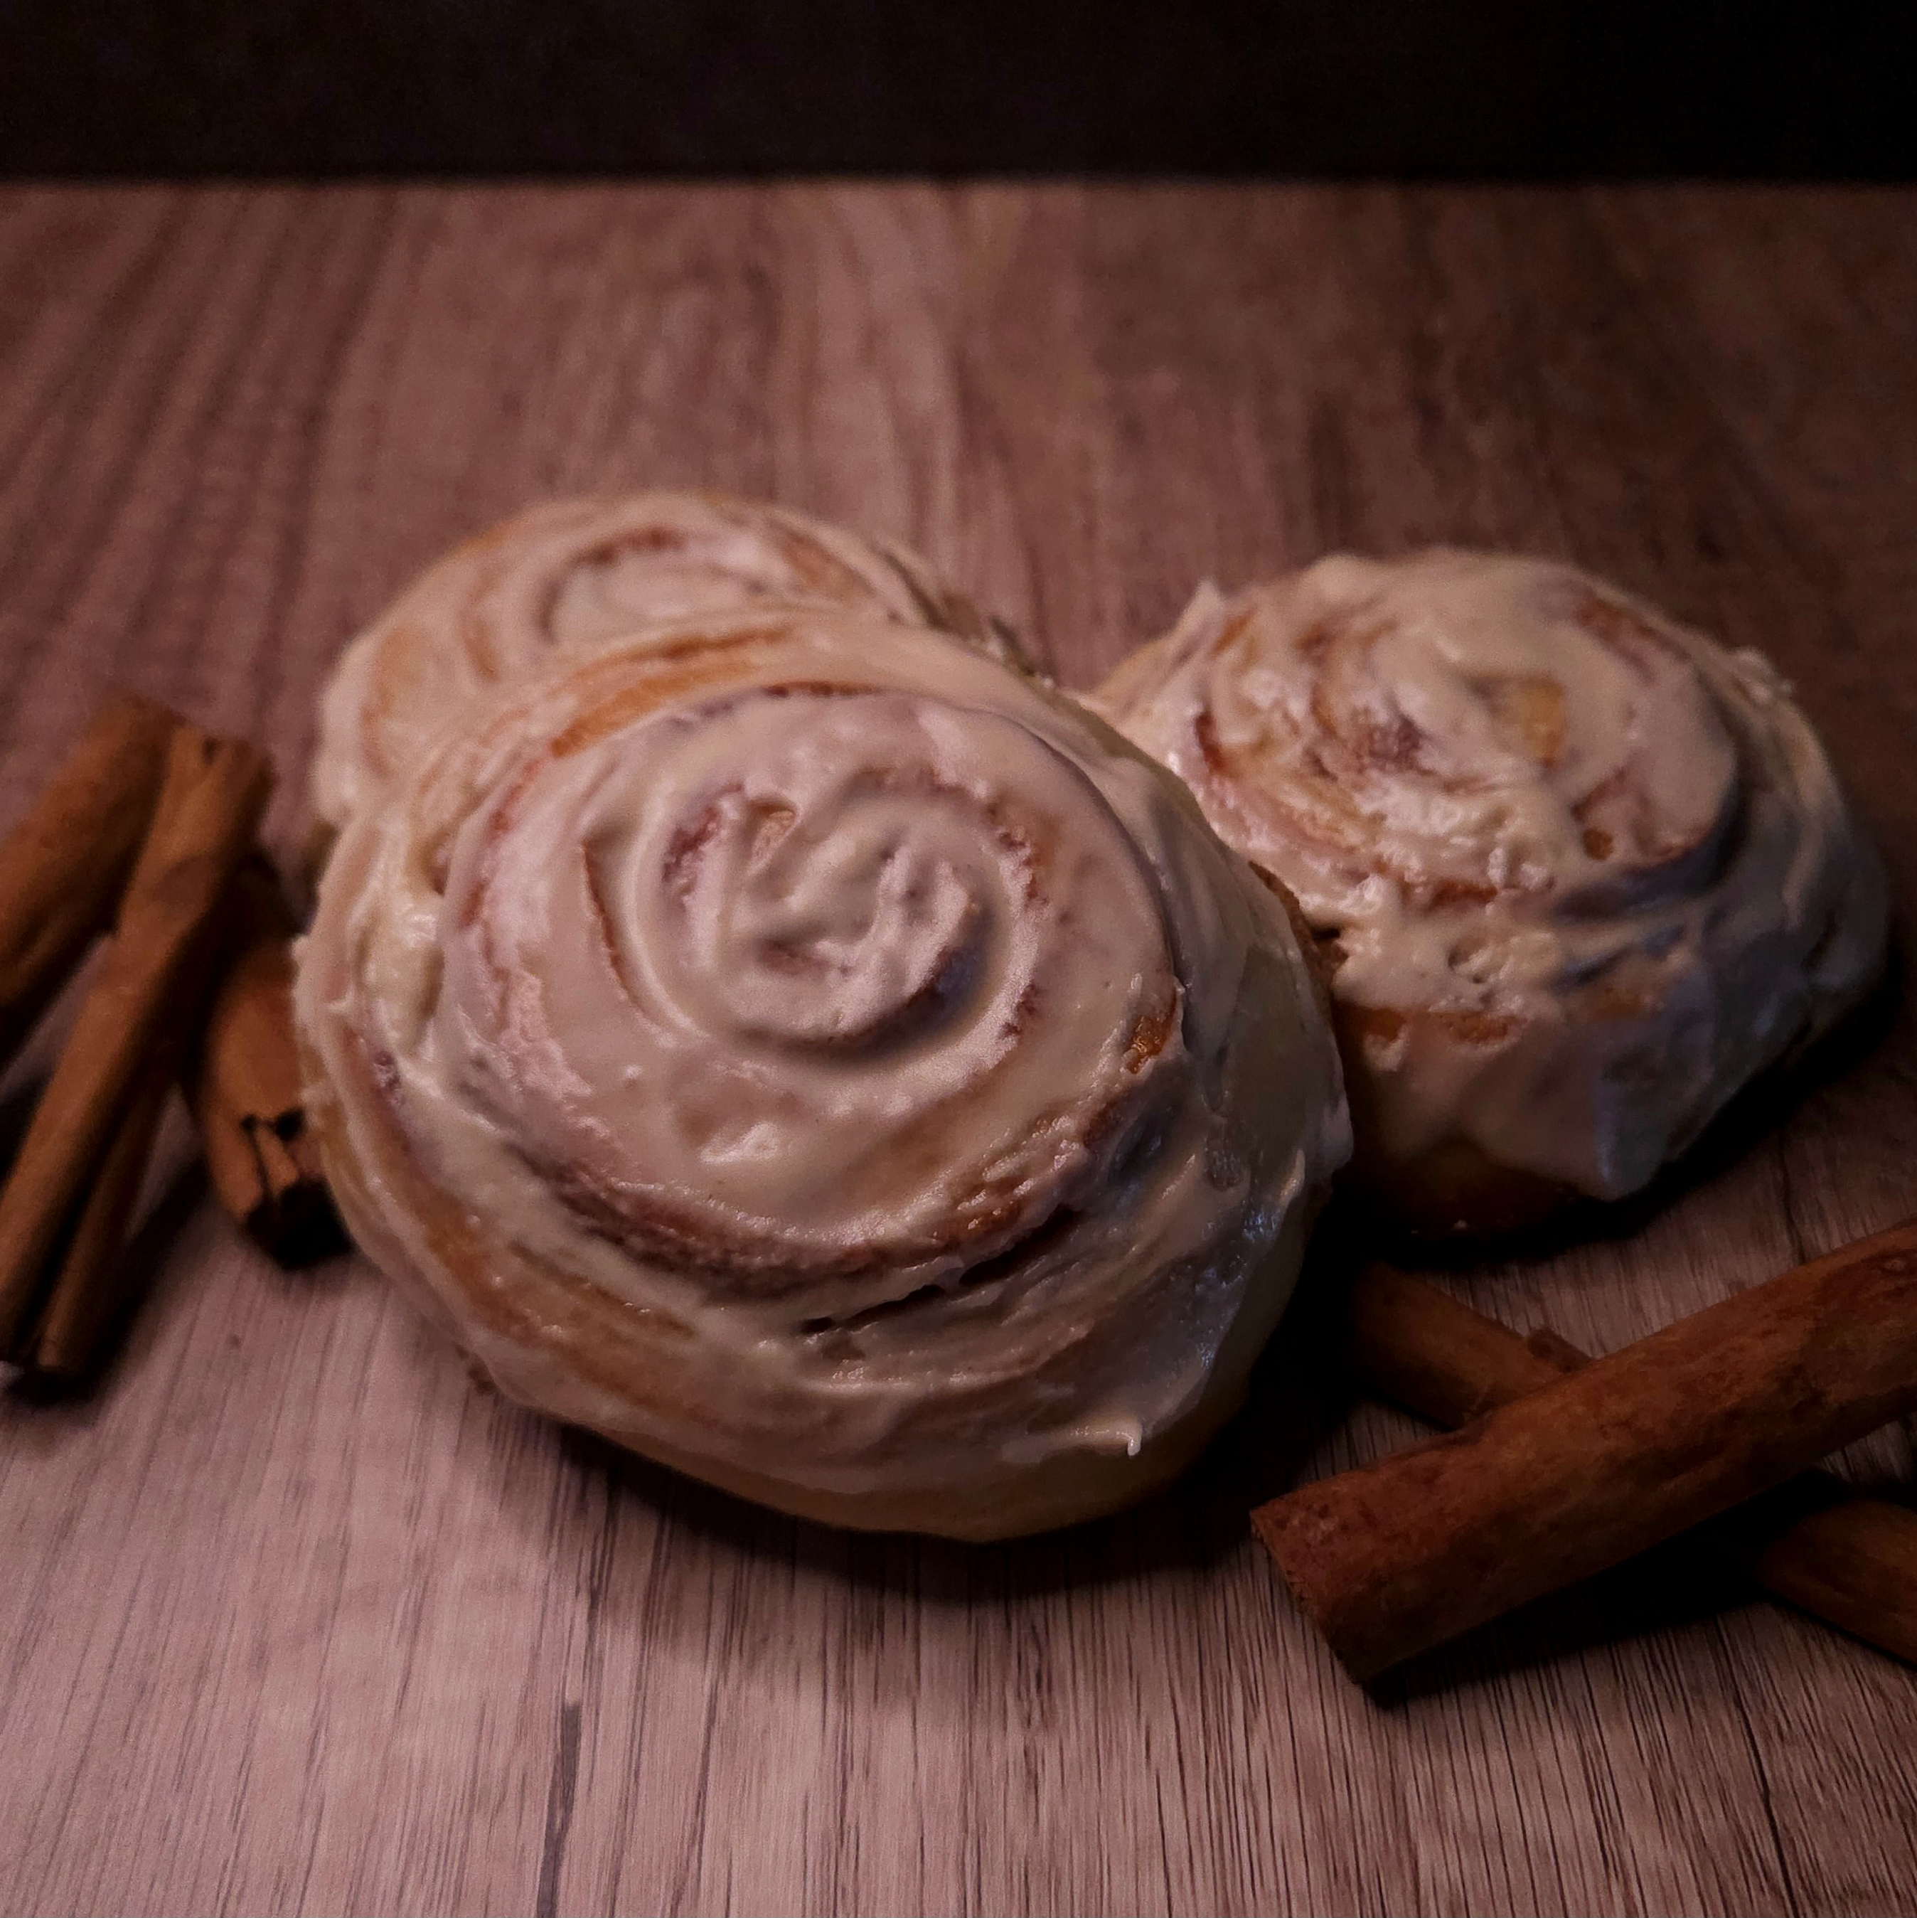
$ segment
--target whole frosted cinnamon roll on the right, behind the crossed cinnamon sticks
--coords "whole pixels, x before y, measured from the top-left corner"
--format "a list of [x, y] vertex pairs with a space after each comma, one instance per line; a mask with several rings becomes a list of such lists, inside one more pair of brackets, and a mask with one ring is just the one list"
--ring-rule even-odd
[[1296, 892], [1353, 1170], [1417, 1228], [1635, 1191], [1879, 972], [1881, 869], [1783, 681], [1568, 566], [1204, 589], [1098, 706]]

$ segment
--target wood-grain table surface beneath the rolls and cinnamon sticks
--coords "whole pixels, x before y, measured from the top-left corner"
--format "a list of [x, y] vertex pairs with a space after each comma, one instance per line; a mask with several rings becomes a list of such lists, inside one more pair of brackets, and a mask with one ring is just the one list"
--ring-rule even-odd
[[[1913, 234], [1894, 192], [10, 190], [0, 821], [121, 679], [268, 740], [291, 848], [328, 662], [422, 562], [705, 483], [914, 541], [1068, 683], [1204, 575], [1576, 556], [1796, 679], [1911, 901]], [[1917, 1210], [1911, 1018], [1854, 1051], [1451, 1283], [1610, 1346]], [[855, 1538], [157, 1183], [123, 1362], [0, 1394], [0, 1908], [1917, 1903], [1917, 1672], [1810, 1619], [1639, 1571], [1348, 1684], [1244, 1513], [1413, 1425], [1296, 1329], [1139, 1513]], [[1909, 1431], [1858, 1469], [1907, 1496]]]

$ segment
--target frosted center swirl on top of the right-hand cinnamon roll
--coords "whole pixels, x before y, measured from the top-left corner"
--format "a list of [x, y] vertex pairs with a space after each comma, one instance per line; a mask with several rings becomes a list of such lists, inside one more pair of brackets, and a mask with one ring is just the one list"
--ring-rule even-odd
[[1610, 911], [1712, 877], [1737, 740], [1666, 633], [1555, 568], [1424, 562], [1399, 589], [1338, 566], [1307, 575], [1315, 610], [1233, 614], [1198, 715], [1212, 771], [1261, 790], [1334, 884]]

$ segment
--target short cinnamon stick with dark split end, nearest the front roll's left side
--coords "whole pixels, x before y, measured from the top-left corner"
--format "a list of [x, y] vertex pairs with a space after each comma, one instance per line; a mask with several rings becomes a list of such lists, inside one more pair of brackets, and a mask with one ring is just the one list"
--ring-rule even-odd
[[255, 855], [234, 880], [224, 971], [186, 1070], [186, 1099], [226, 1210], [282, 1264], [345, 1245], [307, 1132], [293, 1040], [293, 915]]

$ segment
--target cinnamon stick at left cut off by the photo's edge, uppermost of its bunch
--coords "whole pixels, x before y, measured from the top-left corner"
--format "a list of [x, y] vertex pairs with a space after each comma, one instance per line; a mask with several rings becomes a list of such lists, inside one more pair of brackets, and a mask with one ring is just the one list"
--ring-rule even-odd
[[176, 723], [132, 694], [109, 698], [0, 844], [0, 1068], [113, 923]]

